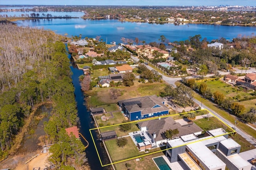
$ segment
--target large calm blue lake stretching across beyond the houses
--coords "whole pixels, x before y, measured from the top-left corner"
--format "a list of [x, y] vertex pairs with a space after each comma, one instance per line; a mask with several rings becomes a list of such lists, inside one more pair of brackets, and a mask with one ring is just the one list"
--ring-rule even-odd
[[[64, 15], [64, 14], [63, 14]], [[189, 36], [200, 34], [208, 41], [221, 37], [232, 40], [238, 35], [256, 35], [256, 27], [243, 26], [220, 26], [207, 24], [186, 24], [175, 26], [174, 24], [148, 24], [136, 22], [119, 22], [118, 20], [84, 20], [77, 19], [53, 19], [53, 20], [20, 20], [18, 26], [31, 26], [50, 29], [57, 34], [68, 34], [69, 37], [79, 36], [82, 38], [95, 38], [101, 36], [104, 42], [122, 43], [122, 37], [146, 43], [159, 42], [161, 35], [164, 35], [170, 42], [188, 40]]]

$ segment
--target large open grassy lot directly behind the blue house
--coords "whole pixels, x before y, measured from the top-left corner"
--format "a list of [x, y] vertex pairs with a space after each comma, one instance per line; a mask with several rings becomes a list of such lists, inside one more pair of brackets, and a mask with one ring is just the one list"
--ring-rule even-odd
[[[116, 103], [119, 100], [130, 99], [134, 97], [142, 97], [147, 95], [159, 95], [160, 92], [164, 91], [166, 83], [139, 83], [134, 82], [134, 85], [131, 87], [110, 87], [110, 88], [96, 88], [87, 91], [86, 103], [88, 107], [96, 107], [100, 105], [107, 105]], [[122, 95], [117, 99], [112, 99], [109, 94], [111, 88], [120, 89]], [[154, 89], [154, 90], [152, 90]]]

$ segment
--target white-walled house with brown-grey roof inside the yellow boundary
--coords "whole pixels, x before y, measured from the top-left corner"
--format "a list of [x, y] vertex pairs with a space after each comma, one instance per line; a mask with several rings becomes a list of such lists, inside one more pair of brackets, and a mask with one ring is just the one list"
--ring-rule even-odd
[[151, 138], [151, 142], [154, 145], [165, 144], [167, 139], [164, 137], [164, 132], [169, 129], [178, 129], [179, 133], [176, 137], [193, 134], [198, 136], [202, 134], [202, 128], [198, 127], [195, 123], [190, 123], [187, 125], [180, 125], [172, 119], [172, 117], [155, 119], [150, 121], [143, 121], [138, 123], [138, 127], [142, 132], [147, 132]]

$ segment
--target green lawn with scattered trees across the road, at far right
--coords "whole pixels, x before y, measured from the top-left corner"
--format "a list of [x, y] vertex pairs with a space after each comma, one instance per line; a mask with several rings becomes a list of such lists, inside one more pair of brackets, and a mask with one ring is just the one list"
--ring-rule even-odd
[[[196, 83], [200, 85], [201, 83]], [[239, 99], [244, 99], [245, 97], [253, 97], [250, 93], [240, 90], [238, 87], [233, 87], [230, 84], [227, 84], [221, 80], [210, 80], [206, 81], [207, 87], [211, 89], [211, 92], [214, 93], [215, 91], [219, 91], [222, 93], [226, 98], [227, 97], [236, 97], [237, 95], [240, 96]]]

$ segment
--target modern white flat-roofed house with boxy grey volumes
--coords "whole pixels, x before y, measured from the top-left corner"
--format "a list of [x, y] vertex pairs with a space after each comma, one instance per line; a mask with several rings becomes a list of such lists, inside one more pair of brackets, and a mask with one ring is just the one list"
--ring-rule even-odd
[[250, 170], [252, 165], [240, 157], [241, 146], [228, 138], [223, 128], [208, 130], [204, 137], [193, 134], [168, 140], [166, 157], [171, 163], [181, 160], [193, 170]]

